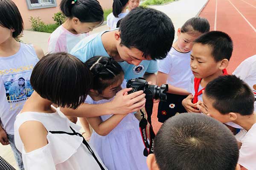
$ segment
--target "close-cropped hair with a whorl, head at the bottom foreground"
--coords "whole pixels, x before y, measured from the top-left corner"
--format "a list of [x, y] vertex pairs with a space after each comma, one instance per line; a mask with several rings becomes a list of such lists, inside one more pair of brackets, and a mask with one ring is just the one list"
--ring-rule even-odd
[[154, 141], [160, 170], [235, 170], [239, 148], [221, 122], [199, 113], [166, 120]]

